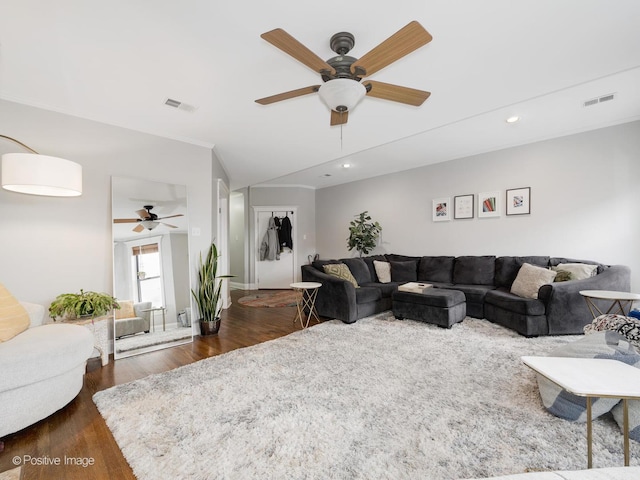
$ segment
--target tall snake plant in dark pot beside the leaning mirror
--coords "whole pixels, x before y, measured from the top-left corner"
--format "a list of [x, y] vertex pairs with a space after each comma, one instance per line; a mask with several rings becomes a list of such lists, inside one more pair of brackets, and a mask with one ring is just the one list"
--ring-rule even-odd
[[218, 275], [218, 249], [212, 243], [207, 258], [198, 265], [198, 283], [191, 294], [200, 312], [200, 334], [214, 335], [220, 329], [220, 312], [222, 311], [222, 282], [233, 275]]

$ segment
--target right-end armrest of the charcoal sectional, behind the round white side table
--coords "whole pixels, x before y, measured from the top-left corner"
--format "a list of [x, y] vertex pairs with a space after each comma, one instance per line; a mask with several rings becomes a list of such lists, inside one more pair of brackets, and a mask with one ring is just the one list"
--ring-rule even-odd
[[546, 307], [549, 335], [582, 333], [584, 326], [593, 320], [580, 290], [628, 292], [631, 290], [631, 269], [625, 265], [612, 265], [594, 277], [540, 287], [538, 298]]

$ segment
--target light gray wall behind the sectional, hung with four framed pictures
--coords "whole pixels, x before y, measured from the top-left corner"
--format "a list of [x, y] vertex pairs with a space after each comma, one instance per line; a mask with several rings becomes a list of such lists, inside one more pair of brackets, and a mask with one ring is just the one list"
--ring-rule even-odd
[[[464, 139], [460, 139], [464, 141]], [[425, 153], [426, 155], [427, 153]], [[393, 162], [393, 158], [389, 158]], [[366, 168], [366, 165], [357, 166]], [[348, 252], [348, 224], [383, 227], [373, 253], [550, 255], [624, 264], [640, 292], [640, 122], [377, 177], [316, 192], [321, 258]], [[531, 215], [433, 222], [438, 197], [531, 187]]]

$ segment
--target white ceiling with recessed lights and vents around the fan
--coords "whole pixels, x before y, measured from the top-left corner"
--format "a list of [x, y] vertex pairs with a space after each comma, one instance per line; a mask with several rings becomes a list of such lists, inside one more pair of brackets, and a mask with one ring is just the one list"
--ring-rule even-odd
[[[335, 185], [640, 118], [638, 0], [0, 0], [0, 9], [1, 98], [213, 147], [233, 189]], [[261, 33], [283, 28], [328, 59], [329, 38], [349, 31], [350, 55], [361, 57], [411, 20], [433, 41], [370, 78], [432, 92], [421, 107], [366, 97], [341, 129], [316, 94], [254, 102], [320, 83]], [[614, 101], [582, 106], [609, 93]], [[512, 114], [522, 120], [508, 125]]]

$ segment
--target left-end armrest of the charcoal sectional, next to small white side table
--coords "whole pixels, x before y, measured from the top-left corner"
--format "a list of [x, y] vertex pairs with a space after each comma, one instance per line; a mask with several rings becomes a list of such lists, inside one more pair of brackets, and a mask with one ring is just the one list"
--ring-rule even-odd
[[320, 315], [337, 318], [344, 323], [356, 321], [356, 289], [351, 282], [328, 275], [311, 265], [302, 266], [302, 281], [322, 283], [315, 304]]

